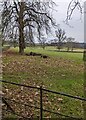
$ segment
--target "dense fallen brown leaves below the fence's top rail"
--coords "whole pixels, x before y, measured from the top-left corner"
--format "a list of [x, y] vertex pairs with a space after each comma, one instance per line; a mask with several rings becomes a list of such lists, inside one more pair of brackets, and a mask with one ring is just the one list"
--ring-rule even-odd
[[[24, 117], [36, 117], [39, 115], [40, 110], [35, 109], [34, 107], [40, 108], [40, 91], [25, 88], [17, 87], [14, 85], [6, 86], [3, 88], [4, 95], [3, 97], [7, 98], [6, 101], [11, 106], [11, 108], [20, 116]], [[59, 102], [62, 102], [63, 99], [58, 96], [54, 96], [48, 93], [43, 92], [43, 109], [60, 112]], [[3, 109], [6, 105], [3, 105]], [[3, 110], [5, 116], [5, 111]], [[45, 114], [47, 117], [47, 113]]]

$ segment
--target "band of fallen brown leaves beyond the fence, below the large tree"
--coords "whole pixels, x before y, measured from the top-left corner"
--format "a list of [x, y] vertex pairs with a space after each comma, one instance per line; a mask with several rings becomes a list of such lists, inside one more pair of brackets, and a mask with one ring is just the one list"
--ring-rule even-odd
[[[69, 71], [71, 73], [78, 74], [79, 72], [83, 71], [84, 65], [83, 64], [75, 64], [72, 60], [65, 60], [63, 58], [47, 58], [42, 59], [40, 57], [33, 57], [33, 56], [20, 56], [15, 54], [4, 54], [3, 55], [3, 71], [6, 73], [28, 73], [37, 76], [44, 76], [47, 77], [50, 74], [51, 69], [52, 75], [55, 74], [55, 70], [58, 73], [62, 73], [65, 71]], [[64, 77], [65, 74], [62, 74]]]

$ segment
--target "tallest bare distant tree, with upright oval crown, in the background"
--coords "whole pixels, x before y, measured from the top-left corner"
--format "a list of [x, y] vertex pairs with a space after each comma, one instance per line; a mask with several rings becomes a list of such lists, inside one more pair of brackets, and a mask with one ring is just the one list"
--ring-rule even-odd
[[56, 37], [57, 37], [58, 50], [60, 51], [60, 49], [62, 47], [62, 43], [66, 39], [65, 31], [62, 30], [61, 28], [58, 28], [58, 30], [55, 31], [55, 33], [56, 33]]

